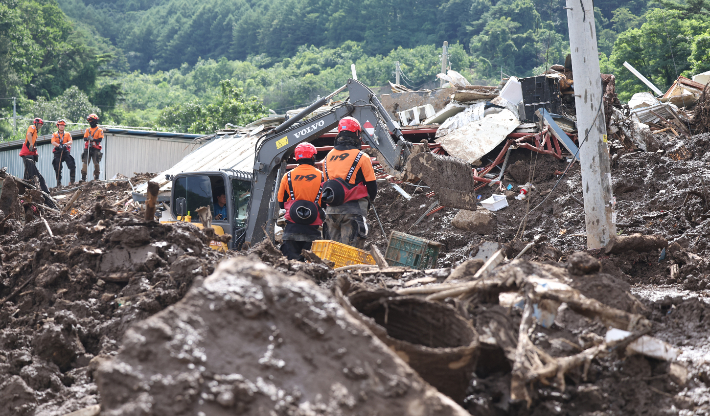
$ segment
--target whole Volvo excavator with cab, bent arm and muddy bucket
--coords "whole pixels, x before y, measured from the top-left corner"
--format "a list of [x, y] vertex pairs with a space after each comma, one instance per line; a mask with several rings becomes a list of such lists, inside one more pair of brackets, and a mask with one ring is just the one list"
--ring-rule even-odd
[[[345, 90], [349, 94], [346, 100], [327, 112], [304, 120]], [[218, 189], [215, 196], [224, 193], [228, 218], [211, 226], [219, 235], [231, 235], [232, 240], [228, 245], [213, 242], [212, 248], [239, 249], [245, 243], [260, 242], [267, 234], [273, 237], [279, 213], [276, 184], [286, 172], [289, 157], [299, 143], [311, 142], [331, 131], [346, 116], [360, 121], [364, 128], [363, 143], [370, 146], [371, 156], [388, 174], [399, 180], [423, 180], [435, 192], [442, 206], [476, 209], [471, 166], [459, 159], [433, 154], [427, 146], [408, 142], [375, 93], [361, 82], [350, 79], [332, 94], [262, 136], [256, 143], [253, 172], [220, 170], [175, 175], [171, 192], [173, 215], [184, 218], [190, 205], [194, 210], [199, 204], [189, 201], [200, 196], [204, 199], [202, 203], [211, 204], [209, 190]]]

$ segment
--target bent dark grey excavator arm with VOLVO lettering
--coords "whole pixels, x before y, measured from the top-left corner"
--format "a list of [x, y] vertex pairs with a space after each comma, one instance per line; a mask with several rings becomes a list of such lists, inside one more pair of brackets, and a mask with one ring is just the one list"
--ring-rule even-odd
[[[322, 107], [331, 97], [345, 89], [348, 90], [349, 98], [344, 103], [333, 107], [326, 113], [299, 123], [314, 110]], [[299, 143], [311, 142], [331, 131], [338, 125], [340, 119], [346, 116], [354, 117], [360, 122], [363, 126], [363, 141], [376, 151], [377, 159], [389, 172], [401, 171], [405, 169], [405, 164], [411, 168], [412, 161], [409, 160], [412, 152], [411, 143], [404, 139], [402, 132], [382, 107], [375, 93], [359, 81], [350, 79], [345, 86], [316, 101], [293, 118], [286, 120], [257, 142], [245, 242], [255, 244], [266, 236], [265, 233], [273, 233], [274, 222], [278, 218], [277, 185], [285, 173], [288, 157], [293, 154], [296, 146]], [[396, 138], [396, 142], [392, 140], [390, 132]], [[419, 156], [424, 156], [424, 154], [420, 153]], [[426, 156], [431, 158], [436, 155], [427, 154]], [[427, 159], [424, 164], [415, 163], [413, 171], [422, 171], [422, 166], [425, 173], [440, 170], [440, 166], [434, 163], [432, 167], [431, 162]], [[419, 169], [417, 169], [418, 167]], [[473, 184], [471, 169], [465, 164], [460, 167], [456, 176], [460, 177], [460, 172], [466, 171], [467, 173], [463, 177], [470, 176], [470, 182]], [[475, 201], [475, 198], [473, 200]], [[473, 209], [475, 209], [475, 202]]]

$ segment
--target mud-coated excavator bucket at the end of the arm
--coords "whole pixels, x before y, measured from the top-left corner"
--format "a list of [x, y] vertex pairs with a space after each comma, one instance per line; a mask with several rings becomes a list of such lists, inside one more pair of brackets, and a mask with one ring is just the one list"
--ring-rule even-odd
[[476, 182], [471, 166], [463, 160], [419, 152], [409, 156], [406, 170], [429, 185], [441, 206], [476, 210]]

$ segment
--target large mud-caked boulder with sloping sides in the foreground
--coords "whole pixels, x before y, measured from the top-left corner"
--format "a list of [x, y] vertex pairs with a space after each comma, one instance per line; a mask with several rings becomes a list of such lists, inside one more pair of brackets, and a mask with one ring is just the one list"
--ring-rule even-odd
[[329, 292], [244, 258], [122, 345], [97, 362], [101, 414], [468, 415]]

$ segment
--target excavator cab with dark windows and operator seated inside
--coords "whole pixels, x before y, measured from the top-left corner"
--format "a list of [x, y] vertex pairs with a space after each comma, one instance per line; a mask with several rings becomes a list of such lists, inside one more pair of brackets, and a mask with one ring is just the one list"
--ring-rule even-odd
[[244, 242], [247, 209], [251, 198], [251, 173], [237, 170], [180, 173], [173, 177], [170, 195], [174, 218], [186, 218], [201, 226], [197, 209], [209, 206], [212, 228], [218, 235], [229, 234], [227, 247], [210, 243], [215, 249], [239, 248]]

